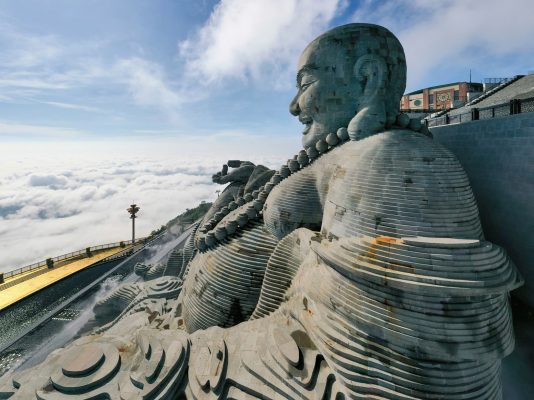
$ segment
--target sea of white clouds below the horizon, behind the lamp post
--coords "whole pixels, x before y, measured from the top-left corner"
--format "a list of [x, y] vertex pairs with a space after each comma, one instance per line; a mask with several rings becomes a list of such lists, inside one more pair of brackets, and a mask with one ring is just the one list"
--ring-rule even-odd
[[[48, 151], [45, 153], [49, 153]], [[141, 207], [137, 237], [213, 201], [221, 157], [31, 154], [0, 161], [0, 271], [131, 238], [126, 208]], [[259, 162], [274, 167], [277, 157]]]

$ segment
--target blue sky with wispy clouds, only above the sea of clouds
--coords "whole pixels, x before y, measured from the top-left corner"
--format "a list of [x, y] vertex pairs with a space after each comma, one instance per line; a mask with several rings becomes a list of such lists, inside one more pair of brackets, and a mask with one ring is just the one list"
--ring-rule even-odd
[[172, 139], [201, 152], [205, 138], [254, 147], [268, 137], [298, 147], [287, 105], [317, 34], [352, 21], [389, 27], [410, 91], [467, 80], [470, 68], [478, 81], [534, 69], [532, 4], [0, 0], [0, 143]]

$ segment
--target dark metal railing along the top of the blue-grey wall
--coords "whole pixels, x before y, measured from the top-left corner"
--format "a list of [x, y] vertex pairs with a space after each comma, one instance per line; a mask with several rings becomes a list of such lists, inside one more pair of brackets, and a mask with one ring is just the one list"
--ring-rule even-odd
[[491, 118], [507, 117], [509, 115], [524, 114], [534, 112], [534, 97], [528, 99], [514, 99], [506, 103], [494, 104], [488, 107], [472, 107], [468, 112], [462, 114], [449, 115], [425, 120], [429, 127], [462, 122], [478, 121]]

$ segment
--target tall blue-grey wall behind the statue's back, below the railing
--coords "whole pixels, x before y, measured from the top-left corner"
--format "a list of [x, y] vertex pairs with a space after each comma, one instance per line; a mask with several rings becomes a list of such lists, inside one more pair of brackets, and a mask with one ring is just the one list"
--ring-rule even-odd
[[471, 181], [486, 239], [504, 247], [534, 307], [534, 113], [430, 128]]

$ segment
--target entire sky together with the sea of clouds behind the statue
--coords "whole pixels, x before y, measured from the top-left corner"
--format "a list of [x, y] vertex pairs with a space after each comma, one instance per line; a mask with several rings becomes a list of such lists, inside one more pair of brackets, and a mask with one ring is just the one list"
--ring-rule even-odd
[[[213, 200], [228, 159], [299, 150], [300, 52], [399, 37], [407, 92], [534, 70], [532, 0], [0, 0], [0, 270], [128, 238]], [[30, 250], [28, 250], [30, 248]]]

